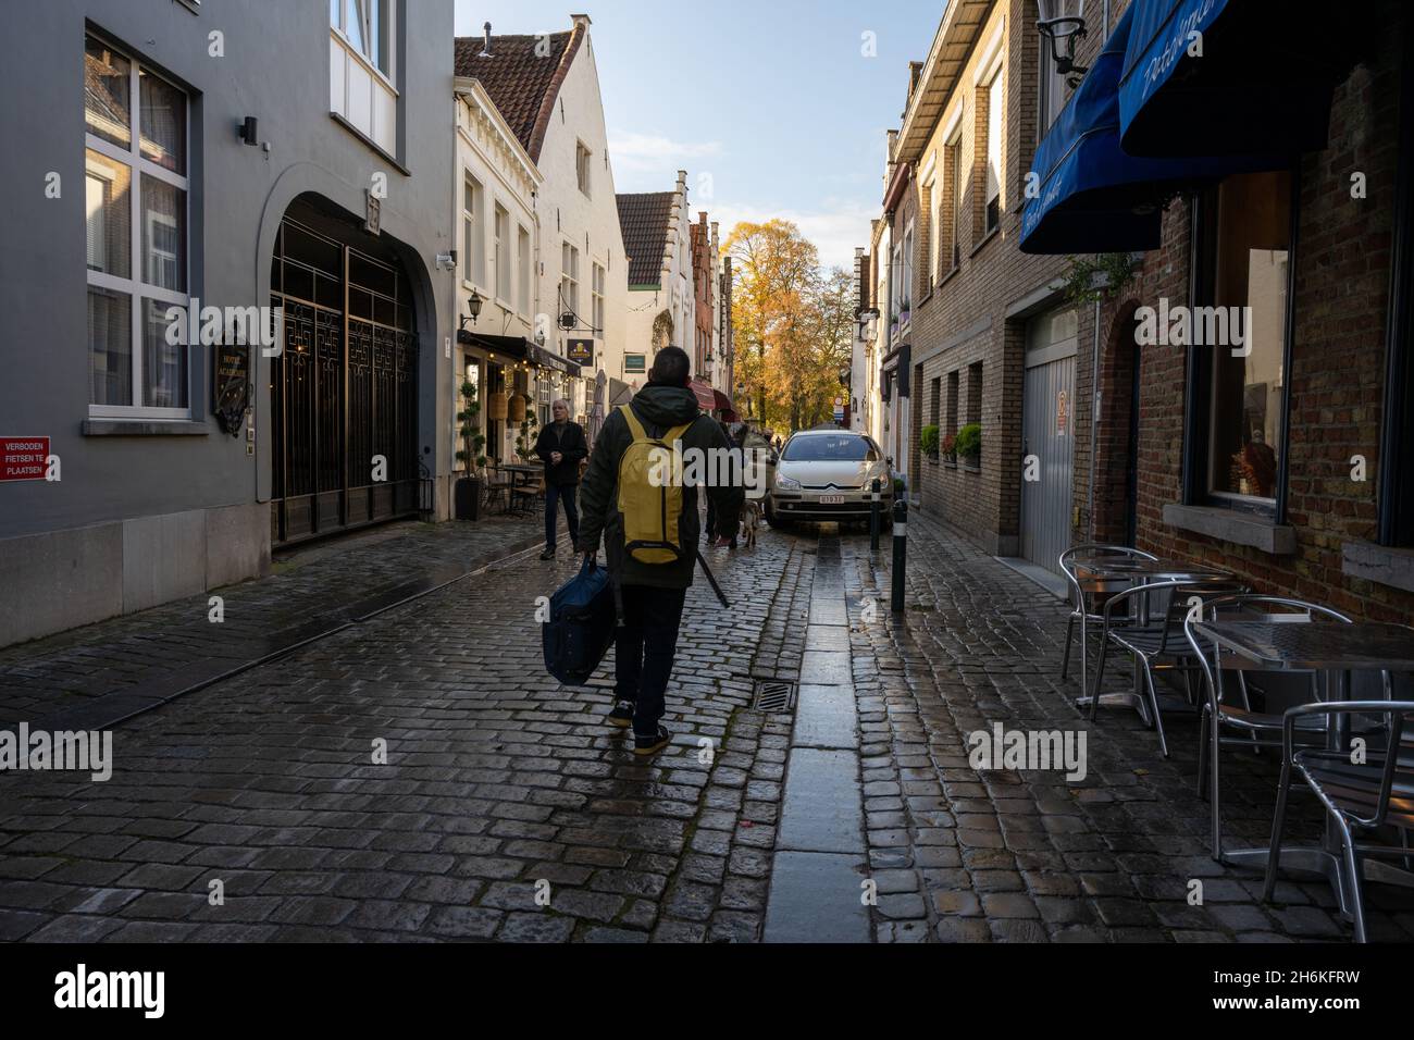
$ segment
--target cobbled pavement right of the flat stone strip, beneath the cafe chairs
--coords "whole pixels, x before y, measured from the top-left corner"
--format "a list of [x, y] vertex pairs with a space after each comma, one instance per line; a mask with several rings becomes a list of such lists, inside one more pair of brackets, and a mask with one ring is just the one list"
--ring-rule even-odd
[[[853, 647], [881, 941], [1349, 938], [1325, 883], [1284, 880], [1264, 904], [1256, 872], [1210, 859], [1196, 720], [1169, 720], [1169, 761], [1133, 710], [1102, 707], [1092, 726], [1072, 706], [1077, 669], [1059, 678], [1068, 607], [926, 518], [908, 532], [902, 625], [887, 613], [887, 553], [875, 566], [867, 542], [846, 542], [850, 594], [882, 596]], [[995, 722], [1086, 732], [1089, 775], [974, 771], [967, 734]], [[1230, 848], [1267, 846], [1278, 770], [1270, 753], [1223, 751]], [[1288, 840], [1314, 839], [1314, 799], [1294, 795], [1292, 809]], [[1372, 940], [1414, 940], [1414, 893], [1372, 883], [1366, 907]]]

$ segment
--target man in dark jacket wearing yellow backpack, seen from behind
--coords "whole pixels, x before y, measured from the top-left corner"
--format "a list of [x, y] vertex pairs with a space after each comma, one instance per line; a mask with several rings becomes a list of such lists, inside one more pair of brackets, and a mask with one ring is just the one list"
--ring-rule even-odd
[[[673, 672], [683, 604], [693, 583], [697, 539], [697, 488], [684, 487], [677, 450], [730, 449], [689, 389], [691, 361], [677, 347], [653, 359], [648, 386], [615, 409], [590, 454], [580, 487], [578, 550], [595, 559], [604, 541], [609, 574], [622, 599], [615, 638], [615, 699], [609, 723], [633, 727], [633, 753], [658, 754], [672, 741], [663, 729], [663, 693]], [[710, 457], [710, 456], [707, 456]], [[718, 516], [737, 516], [742, 487], [706, 487]]]

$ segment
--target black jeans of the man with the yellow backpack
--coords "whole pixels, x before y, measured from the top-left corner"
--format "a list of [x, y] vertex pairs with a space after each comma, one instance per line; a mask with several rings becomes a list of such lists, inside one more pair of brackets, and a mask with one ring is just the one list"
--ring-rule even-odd
[[622, 594], [624, 627], [614, 644], [614, 692], [619, 700], [633, 703], [633, 732], [646, 737], [658, 733], [663, 717], [663, 693], [673, 674], [687, 590], [626, 584]]

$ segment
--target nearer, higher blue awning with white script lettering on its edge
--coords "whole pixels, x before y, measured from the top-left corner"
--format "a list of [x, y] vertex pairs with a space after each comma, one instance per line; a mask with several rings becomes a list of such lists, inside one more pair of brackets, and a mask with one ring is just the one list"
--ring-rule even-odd
[[1360, 14], [1326, 0], [1134, 0], [1130, 10], [1120, 76], [1126, 151], [1294, 156], [1325, 147], [1331, 95], [1355, 61]]

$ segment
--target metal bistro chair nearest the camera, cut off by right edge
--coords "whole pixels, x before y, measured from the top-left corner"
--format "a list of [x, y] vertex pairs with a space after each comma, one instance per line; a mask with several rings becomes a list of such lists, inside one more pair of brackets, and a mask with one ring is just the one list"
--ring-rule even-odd
[[[1389, 672], [1384, 672], [1389, 692]], [[1379, 751], [1370, 751], [1363, 764], [1352, 761], [1348, 751], [1328, 751], [1297, 747], [1298, 726], [1304, 719], [1326, 716], [1331, 724], [1336, 716], [1379, 715], [1386, 720], [1389, 739]], [[1267, 884], [1263, 900], [1271, 901], [1281, 869], [1281, 832], [1287, 824], [1287, 795], [1292, 787], [1292, 771], [1325, 807], [1326, 815], [1340, 833], [1345, 873], [1349, 876], [1349, 907], [1355, 918], [1355, 941], [1366, 942], [1365, 928], [1365, 857], [1391, 856], [1404, 860], [1410, 869], [1414, 850], [1410, 832], [1414, 831], [1414, 734], [1406, 733], [1404, 723], [1414, 716], [1414, 700], [1342, 700], [1299, 705], [1282, 717], [1281, 782], [1277, 788], [1277, 814], [1271, 824], [1271, 853], [1267, 859]], [[1381, 828], [1400, 833], [1400, 845], [1362, 842]]]

